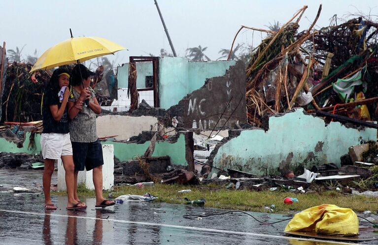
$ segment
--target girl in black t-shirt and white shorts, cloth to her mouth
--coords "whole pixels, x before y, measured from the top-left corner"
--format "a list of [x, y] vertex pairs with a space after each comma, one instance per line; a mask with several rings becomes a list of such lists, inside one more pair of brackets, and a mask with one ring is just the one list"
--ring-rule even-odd
[[77, 210], [87, 207], [84, 203], [74, 199], [74, 165], [67, 113], [69, 96], [69, 72], [61, 68], [56, 69], [46, 86], [42, 102], [43, 131], [41, 135], [41, 150], [45, 163], [43, 192], [45, 195], [44, 207], [49, 210], [57, 209], [51, 201], [50, 185], [55, 160], [59, 158], [62, 159], [66, 171], [67, 209]]

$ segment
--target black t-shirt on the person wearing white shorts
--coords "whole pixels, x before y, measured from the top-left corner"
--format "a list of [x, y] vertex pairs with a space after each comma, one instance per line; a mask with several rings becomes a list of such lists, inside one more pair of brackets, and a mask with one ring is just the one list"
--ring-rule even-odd
[[54, 120], [53, 115], [51, 114], [50, 105], [58, 105], [58, 109], [61, 107], [62, 102], [59, 101], [58, 91], [54, 92], [54, 90], [49, 89], [43, 95], [42, 133], [69, 133], [69, 117], [67, 112], [68, 105], [66, 105], [66, 109], [59, 122]]

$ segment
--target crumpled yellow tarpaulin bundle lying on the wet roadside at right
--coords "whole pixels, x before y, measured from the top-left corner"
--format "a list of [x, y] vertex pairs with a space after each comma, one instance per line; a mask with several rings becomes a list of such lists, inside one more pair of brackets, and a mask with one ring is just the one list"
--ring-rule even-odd
[[285, 231], [315, 231], [324, 235], [358, 235], [357, 214], [351, 209], [323, 204], [295, 214]]

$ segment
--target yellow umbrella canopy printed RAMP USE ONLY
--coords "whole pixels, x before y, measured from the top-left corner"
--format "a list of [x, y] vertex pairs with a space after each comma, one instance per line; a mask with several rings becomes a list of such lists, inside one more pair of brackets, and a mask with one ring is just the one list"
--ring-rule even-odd
[[92, 58], [114, 54], [126, 48], [102, 37], [71, 37], [46, 50], [30, 72], [56, 66], [83, 62]]

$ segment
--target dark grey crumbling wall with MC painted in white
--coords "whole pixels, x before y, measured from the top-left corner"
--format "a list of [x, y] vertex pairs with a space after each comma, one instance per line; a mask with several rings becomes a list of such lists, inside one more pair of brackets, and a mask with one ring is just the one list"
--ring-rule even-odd
[[220, 128], [225, 123], [227, 127], [243, 123], [246, 117], [245, 76], [244, 64], [238, 62], [225, 75], [207, 79], [201, 89], [186, 95], [167, 112], [185, 128], [208, 130], [215, 125]]

